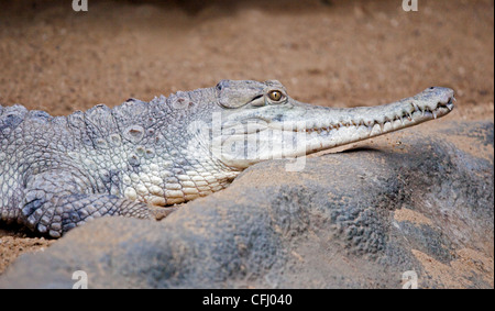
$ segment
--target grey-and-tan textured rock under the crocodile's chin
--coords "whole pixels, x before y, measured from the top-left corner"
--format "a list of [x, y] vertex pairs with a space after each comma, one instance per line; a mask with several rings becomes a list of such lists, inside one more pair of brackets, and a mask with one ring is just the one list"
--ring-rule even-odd
[[[493, 288], [492, 122], [249, 168], [161, 222], [96, 220], [22, 255], [0, 288]], [[420, 130], [417, 130], [420, 129]], [[366, 144], [363, 144], [364, 146]]]

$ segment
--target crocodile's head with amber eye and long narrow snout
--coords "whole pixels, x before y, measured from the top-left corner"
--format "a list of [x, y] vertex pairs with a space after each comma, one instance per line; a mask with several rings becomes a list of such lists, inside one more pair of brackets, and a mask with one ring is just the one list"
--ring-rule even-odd
[[397, 131], [448, 114], [454, 93], [432, 87], [397, 102], [337, 109], [290, 98], [276, 80], [222, 80], [208, 122], [208, 146], [226, 165], [290, 158]]

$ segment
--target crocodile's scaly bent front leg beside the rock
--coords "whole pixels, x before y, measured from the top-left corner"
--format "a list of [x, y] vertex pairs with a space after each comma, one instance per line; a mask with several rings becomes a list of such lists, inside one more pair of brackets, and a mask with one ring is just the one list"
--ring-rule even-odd
[[[69, 180], [67, 180], [69, 176]], [[107, 215], [154, 219], [146, 203], [106, 193], [91, 193], [66, 171], [47, 171], [29, 178], [20, 201], [18, 221], [31, 230], [59, 237], [89, 220]]]

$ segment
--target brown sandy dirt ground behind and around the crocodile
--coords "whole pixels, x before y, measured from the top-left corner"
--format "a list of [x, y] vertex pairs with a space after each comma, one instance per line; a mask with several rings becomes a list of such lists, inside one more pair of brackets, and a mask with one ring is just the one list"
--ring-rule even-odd
[[[300, 101], [333, 107], [444, 86], [458, 98], [446, 119], [494, 116], [493, 0], [419, 0], [417, 12], [402, 0], [88, 0], [88, 12], [70, 2], [0, 4], [2, 105], [63, 115], [220, 79], [277, 79]], [[53, 243], [0, 224], [0, 274]]]

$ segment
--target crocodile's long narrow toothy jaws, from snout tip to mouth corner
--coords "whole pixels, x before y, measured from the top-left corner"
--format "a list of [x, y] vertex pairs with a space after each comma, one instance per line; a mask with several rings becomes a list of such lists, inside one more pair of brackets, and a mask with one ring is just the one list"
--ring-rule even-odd
[[224, 138], [242, 138], [243, 135], [255, 137], [253, 135], [268, 130], [271, 133], [280, 132], [275, 135], [306, 134], [310, 140], [321, 137], [324, 140], [321, 142], [329, 138], [337, 144], [343, 144], [444, 116], [452, 111], [454, 102], [452, 90], [430, 88], [415, 97], [389, 104], [349, 109], [312, 108], [308, 104], [299, 111], [296, 110], [294, 116], [290, 111], [282, 118], [282, 114], [276, 118], [256, 115], [240, 122], [222, 123], [221, 130]]

